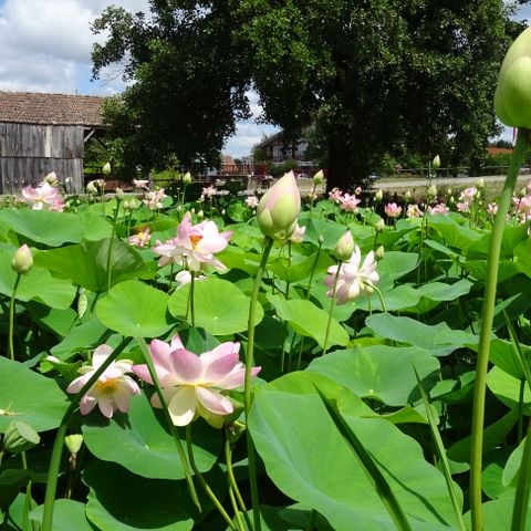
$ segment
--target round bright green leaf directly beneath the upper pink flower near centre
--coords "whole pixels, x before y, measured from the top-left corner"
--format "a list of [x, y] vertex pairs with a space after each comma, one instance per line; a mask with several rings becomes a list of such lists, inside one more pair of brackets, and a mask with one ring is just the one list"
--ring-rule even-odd
[[[176, 290], [169, 298], [168, 309], [175, 316], [186, 315], [190, 285]], [[250, 298], [227, 280], [209, 278], [194, 284], [195, 325], [212, 335], [229, 335], [248, 327]], [[254, 324], [263, 317], [257, 304]], [[190, 321], [190, 315], [188, 315]]]

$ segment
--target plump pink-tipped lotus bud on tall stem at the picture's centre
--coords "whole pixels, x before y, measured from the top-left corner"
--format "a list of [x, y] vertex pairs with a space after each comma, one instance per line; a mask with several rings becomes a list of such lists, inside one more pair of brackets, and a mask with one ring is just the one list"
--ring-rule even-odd
[[257, 207], [258, 227], [270, 238], [287, 240], [296, 228], [301, 194], [293, 171], [285, 174], [268, 190]]

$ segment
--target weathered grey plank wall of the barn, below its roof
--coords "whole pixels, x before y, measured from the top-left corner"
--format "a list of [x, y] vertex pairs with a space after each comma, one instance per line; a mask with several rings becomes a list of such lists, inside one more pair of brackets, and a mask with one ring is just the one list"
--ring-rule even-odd
[[82, 125], [0, 124], [0, 192], [17, 194], [50, 171], [79, 191], [83, 187]]

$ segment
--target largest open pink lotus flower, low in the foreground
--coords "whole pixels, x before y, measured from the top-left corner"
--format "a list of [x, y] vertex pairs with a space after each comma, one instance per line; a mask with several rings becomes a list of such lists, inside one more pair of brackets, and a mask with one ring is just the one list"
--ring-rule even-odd
[[[239, 343], [221, 343], [197, 356], [184, 347], [178, 335], [170, 344], [152, 341], [149, 354], [176, 426], [187, 426], [197, 417], [205, 418], [216, 428], [223, 425], [225, 417], [235, 410], [235, 406], [222, 393], [244, 383], [246, 367], [239, 361]], [[133, 371], [153, 385], [147, 365], [134, 365]], [[259, 371], [260, 367], [253, 367], [252, 376]], [[162, 407], [156, 394], [152, 396], [152, 405]]]

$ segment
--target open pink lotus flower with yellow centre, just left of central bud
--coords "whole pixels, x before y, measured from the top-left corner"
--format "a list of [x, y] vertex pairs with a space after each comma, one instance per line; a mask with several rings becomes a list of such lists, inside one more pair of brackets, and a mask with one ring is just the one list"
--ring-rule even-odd
[[202, 221], [191, 225], [189, 212], [177, 227], [177, 237], [153, 248], [160, 267], [175, 261], [190, 271], [200, 271], [202, 267], [211, 266], [218, 271], [227, 268], [214, 254], [222, 251], [228, 244], [232, 231], [219, 233], [214, 221]]

